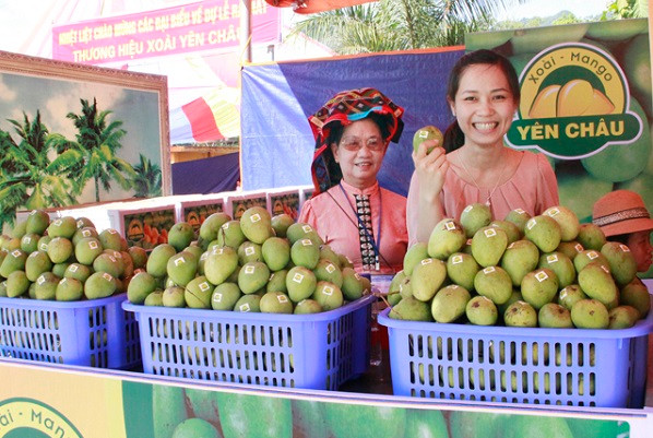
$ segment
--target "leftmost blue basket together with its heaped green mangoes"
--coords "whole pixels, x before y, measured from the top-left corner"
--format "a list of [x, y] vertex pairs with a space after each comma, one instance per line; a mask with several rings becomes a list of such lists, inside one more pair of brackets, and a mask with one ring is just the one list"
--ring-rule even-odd
[[121, 309], [147, 258], [115, 229], [50, 222], [33, 211], [0, 237], [0, 352], [4, 357], [102, 368], [140, 367], [138, 323]]

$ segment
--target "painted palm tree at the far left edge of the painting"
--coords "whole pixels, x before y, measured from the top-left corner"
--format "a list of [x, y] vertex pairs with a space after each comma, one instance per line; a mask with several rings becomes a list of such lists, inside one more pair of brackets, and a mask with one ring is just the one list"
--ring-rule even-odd
[[0, 224], [15, 221], [20, 208], [45, 209], [71, 205], [72, 184], [59, 173], [59, 165], [48, 157], [48, 129], [36, 111], [33, 121], [23, 113], [23, 122], [8, 120], [21, 141], [0, 130]]

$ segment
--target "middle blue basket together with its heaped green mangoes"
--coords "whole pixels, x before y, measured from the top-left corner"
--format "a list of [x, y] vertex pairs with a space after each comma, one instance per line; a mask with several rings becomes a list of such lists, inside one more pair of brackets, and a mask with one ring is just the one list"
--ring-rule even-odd
[[369, 280], [287, 214], [175, 224], [127, 295], [145, 372], [337, 389], [368, 365]]

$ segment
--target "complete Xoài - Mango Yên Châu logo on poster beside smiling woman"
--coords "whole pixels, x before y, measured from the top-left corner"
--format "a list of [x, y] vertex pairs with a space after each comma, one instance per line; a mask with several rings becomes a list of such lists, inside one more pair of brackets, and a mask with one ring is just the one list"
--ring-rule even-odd
[[629, 144], [642, 133], [640, 116], [629, 110], [621, 68], [595, 46], [548, 47], [524, 68], [520, 87], [518, 118], [507, 134], [515, 149], [577, 159]]

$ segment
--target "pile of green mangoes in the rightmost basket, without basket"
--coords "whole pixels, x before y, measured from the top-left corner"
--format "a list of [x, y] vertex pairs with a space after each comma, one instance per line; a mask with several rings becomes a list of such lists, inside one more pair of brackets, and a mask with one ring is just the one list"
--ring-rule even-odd
[[494, 220], [467, 205], [428, 242], [408, 248], [394, 275], [390, 318], [477, 325], [625, 329], [651, 307], [630, 249], [580, 224], [562, 205]]

